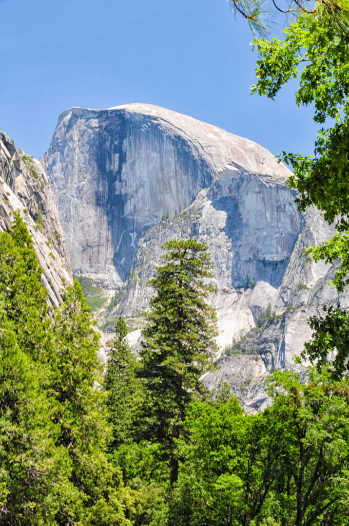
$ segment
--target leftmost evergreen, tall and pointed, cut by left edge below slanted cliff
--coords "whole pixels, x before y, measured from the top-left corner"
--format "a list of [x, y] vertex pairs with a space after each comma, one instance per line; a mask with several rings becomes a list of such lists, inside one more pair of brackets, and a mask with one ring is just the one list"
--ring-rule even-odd
[[77, 497], [45, 390], [50, 330], [41, 272], [17, 215], [0, 234], [0, 522], [13, 526], [56, 525], [63, 513], [67, 522]]

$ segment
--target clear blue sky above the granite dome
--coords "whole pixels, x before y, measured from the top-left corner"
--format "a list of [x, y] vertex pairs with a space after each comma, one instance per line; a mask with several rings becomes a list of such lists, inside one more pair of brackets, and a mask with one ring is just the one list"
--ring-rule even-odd
[[71, 106], [143, 102], [311, 155], [296, 84], [250, 95], [252, 34], [225, 0], [0, 0], [0, 127], [34, 157]]

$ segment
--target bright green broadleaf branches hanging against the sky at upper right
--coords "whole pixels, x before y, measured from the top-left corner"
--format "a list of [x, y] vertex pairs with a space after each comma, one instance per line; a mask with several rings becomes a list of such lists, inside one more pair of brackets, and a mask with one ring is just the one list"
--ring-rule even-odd
[[329, 117], [336, 120], [331, 128], [320, 129], [314, 157], [283, 152], [281, 159], [293, 167], [290, 186], [300, 192], [296, 199], [300, 209], [316, 205], [329, 222], [340, 216], [337, 227], [343, 231], [349, 226], [348, 32], [338, 32], [316, 17], [303, 16], [284, 33], [282, 42], [275, 38], [254, 41], [260, 58], [256, 68], [259, 80], [252, 91], [274, 98], [283, 84], [299, 76], [296, 103], [314, 104], [317, 123]]

